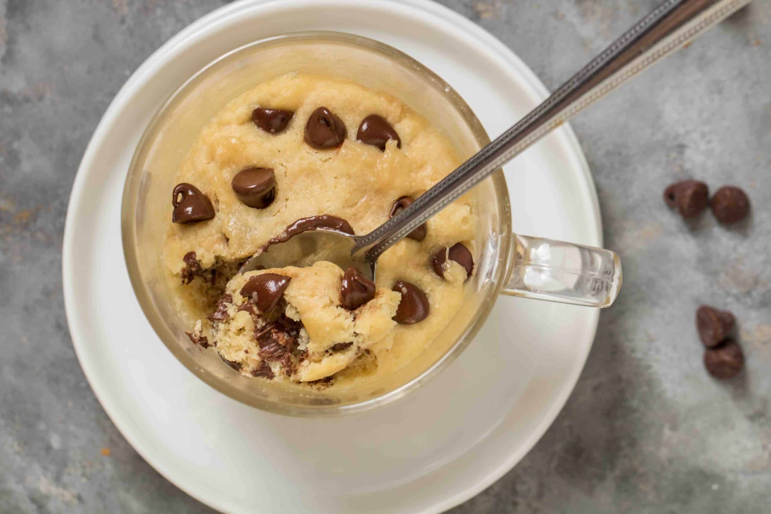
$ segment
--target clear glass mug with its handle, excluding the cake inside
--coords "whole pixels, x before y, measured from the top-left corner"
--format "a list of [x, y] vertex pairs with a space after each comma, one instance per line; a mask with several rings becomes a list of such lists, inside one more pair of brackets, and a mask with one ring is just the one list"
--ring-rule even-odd
[[169, 193], [183, 154], [200, 129], [231, 99], [286, 72], [317, 72], [388, 92], [431, 119], [467, 158], [490, 142], [466, 102], [439, 76], [388, 45], [335, 32], [281, 35], [251, 43], [212, 62], [185, 82], [150, 121], [123, 190], [123, 252], [148, 321], [194, 375], [247, 405], [285, 415], [359, 412], [396, 400], [450, 364], [473, 340], [499, 294], [607, 307], [621, 286], [621, 263], [608, 250], [511, 232], [509, 196], [497, 170], [474, 189], [483, 244], [466, 283], [464, 309], [433, 344], [393, 375], [355, 391], [313, 391], [237, 374], [216, 351], [185, 335], [197, 316], [175, 304], [160, 260]]

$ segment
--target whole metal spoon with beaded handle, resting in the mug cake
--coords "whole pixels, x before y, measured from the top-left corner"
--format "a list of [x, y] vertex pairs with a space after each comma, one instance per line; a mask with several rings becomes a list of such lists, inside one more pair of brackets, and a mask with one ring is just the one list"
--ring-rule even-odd
[[[616, 39], [519, 123], [423, 193], [401, 213], [363, 236], [339, 227], [315, 227], [292, 237], [274, 238], [240, 273], [264, 267], [307, 266], [330, 260], [342, 269], [359, 268], [374, 280], [378, 257], [434, 214], [490, 176], [538, 139], [590, 106], [654, 62], [682, 48], [749, 0], [667, 0]], [[288, 246], [291, 245], [291, 246]]]

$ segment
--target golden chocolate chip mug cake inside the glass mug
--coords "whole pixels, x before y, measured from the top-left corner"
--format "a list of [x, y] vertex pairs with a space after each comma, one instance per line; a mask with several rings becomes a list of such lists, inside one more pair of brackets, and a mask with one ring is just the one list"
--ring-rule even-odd
[[[194, 320], [190, 339], [258, 379], [343, 387], [402, 368], [463, 308], [473, 193], [386, 251], [374, 297], [356, 309], [343, 306], [345, 270], [335, 264], [236, 271], [301, 218], [337, 217], [367, 233], [461, 162], [429, 120], [355, 82], [296, 72], [233, 99], [190, 146], [164, 220], [161, 260], [177, 307]], [[268, 313], [241, 294], [262, 274], [290, 279]], [[284, 360], [261, 357], [260, 338], [278, 341]]]

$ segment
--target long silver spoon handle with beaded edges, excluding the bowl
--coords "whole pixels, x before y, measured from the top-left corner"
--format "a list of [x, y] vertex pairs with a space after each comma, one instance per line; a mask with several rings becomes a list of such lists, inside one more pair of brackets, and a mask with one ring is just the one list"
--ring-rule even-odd
[[616, 39], [540, 106], [399, 215], [358, 237], [370, 263], [528, 146], [654, 62], [682, 48], [749, 0], [666, 0]]

